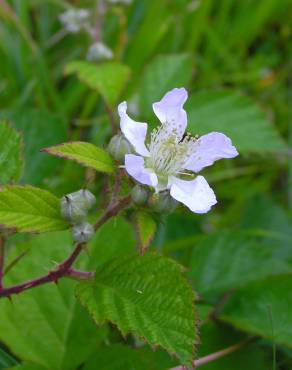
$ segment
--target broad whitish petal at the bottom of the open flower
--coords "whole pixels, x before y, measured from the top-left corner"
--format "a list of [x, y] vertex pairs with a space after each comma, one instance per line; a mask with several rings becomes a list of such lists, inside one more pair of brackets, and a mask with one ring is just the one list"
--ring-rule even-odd
[[172, 177], [169, 184], [170, 195], [192, 212], [207, 213], [217, 203], [214, 191], [203, 176], [197, 176], [191, 181]]

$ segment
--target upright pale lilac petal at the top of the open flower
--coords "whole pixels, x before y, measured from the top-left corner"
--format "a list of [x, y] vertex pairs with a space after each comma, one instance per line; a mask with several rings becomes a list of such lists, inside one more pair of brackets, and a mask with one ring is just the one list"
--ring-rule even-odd
[[175, 88], [166, 93], [159, 102], [153, 104], [154, 113], [159, 121], [167, 124], [170, 133], [175, 130], [179, 140], [183, 137], [187, 126], [187, 114], [183, 109], [187, 98], [186, 89]]

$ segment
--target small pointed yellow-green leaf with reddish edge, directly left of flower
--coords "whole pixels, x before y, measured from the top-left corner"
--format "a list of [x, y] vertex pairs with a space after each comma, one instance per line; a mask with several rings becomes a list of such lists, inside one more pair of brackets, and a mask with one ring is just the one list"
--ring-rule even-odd
[[109, 154], [91, 143], [73, 141], [45, 148], [43, 151], [57, 157], [73, 160], [83, 166], [94, 168], [96, 171], [106, 173], [114, 171], [114, 164]]

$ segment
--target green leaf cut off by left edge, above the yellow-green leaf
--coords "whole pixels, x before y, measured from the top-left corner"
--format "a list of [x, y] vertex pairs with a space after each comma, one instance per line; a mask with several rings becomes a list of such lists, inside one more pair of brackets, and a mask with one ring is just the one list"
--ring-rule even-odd
[[22, 139], [7, 122], [0, 122], [0, 183], [18, 181], [23, 169]]

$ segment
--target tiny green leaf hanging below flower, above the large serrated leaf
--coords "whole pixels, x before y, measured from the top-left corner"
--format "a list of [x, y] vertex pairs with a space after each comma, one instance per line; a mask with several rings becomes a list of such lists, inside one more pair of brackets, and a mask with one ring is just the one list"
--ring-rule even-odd
[[145, 252], [152, 242], [156, 232], [156, 222], [146, 212], [137, 212], [135, 215], [135, 228], [140, 251]]

